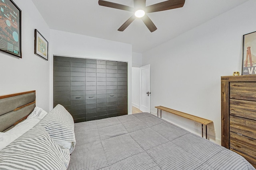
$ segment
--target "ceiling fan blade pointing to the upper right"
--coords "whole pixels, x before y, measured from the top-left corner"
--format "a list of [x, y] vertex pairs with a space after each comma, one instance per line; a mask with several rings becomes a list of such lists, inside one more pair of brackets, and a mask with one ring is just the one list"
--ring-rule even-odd
[[185, 0], [167, 0], [158, 4], [146, 7], [146, 13], [171, 10], [174, 8], [181, 8], [185, 4]]

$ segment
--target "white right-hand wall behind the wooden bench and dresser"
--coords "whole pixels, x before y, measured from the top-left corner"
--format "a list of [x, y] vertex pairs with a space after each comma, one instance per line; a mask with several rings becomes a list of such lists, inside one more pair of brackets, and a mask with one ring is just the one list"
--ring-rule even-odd
[[[151, 111], [165, 106], [210, 119], [220, 144], [220, 76], [242, 68], [242, 38], [256, 31], [256, 1], [250, 0], [206, 23], [143, 53], [150, 64]], [[193, 121], [163, 113], [162, 117], [200, 135]]]

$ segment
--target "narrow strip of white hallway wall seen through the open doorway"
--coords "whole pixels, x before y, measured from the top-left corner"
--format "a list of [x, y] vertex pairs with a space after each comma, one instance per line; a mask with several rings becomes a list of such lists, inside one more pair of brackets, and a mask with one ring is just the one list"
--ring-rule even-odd
[[132, 67], [132, 106], [140, 108], [140, 68]]

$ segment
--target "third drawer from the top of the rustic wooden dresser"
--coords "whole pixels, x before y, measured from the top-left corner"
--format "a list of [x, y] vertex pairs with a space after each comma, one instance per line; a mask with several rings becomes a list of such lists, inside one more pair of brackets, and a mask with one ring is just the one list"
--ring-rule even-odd
[[230, 131], [256, 139], [256, 121], [230, 115]]

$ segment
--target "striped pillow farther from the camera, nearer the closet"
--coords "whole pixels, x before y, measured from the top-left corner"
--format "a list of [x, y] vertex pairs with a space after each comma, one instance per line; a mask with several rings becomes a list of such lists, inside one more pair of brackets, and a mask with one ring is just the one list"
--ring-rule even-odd
[[46, 127], [46, 131], [55, 142], [64, 148], [68, 146], [70, 154], [73, 152], [76, 145], [74, 119], [63, 106], [58, 104], [54, 107], [40, 124]]

